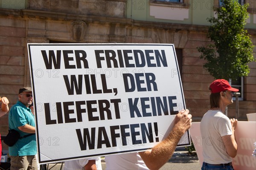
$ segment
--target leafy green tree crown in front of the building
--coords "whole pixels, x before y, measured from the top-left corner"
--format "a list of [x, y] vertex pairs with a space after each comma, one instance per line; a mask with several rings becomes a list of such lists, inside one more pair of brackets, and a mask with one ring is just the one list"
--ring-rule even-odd
[[222, 0], [217, 18], [207, 18], [211, 23], [208, 38], [212, 43], [198, 47], [200, 58], [207, 62], [204, 68], [216, 79], [237, 79], [250, 72], [248, 62], [254, 60], [253, 43], [244, 29], [248, 18], [248, 4], [241, 6], [237, 0]]

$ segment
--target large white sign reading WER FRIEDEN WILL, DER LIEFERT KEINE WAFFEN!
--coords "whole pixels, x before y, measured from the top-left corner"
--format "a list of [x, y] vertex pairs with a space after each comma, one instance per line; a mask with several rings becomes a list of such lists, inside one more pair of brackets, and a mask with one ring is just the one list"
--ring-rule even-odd
[[[28, 44], [38, 159], [153, 147], [186, 108], [172, 44]], [[190, 144], [189, 132], [178, 146]]]

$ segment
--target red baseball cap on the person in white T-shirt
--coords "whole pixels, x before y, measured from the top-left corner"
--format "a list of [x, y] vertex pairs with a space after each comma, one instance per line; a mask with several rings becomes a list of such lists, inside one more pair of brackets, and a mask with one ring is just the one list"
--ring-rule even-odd
[[227, 80], [225, 79], [216, 79], [212, 84], [210, 85], [211, 93], [219, 93], [221, 91], [239, 91], [239, 89], [232, 88]]

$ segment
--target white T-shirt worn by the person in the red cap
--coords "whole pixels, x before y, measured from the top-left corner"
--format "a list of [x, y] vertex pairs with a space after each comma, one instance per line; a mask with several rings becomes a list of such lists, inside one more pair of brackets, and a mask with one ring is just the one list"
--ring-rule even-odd
[[208, 164], [226, 164], [232, 161], [221, 137], [232, 135], [230, 119], [221, 111], [207, 111], [200, 123], [203, 157]]

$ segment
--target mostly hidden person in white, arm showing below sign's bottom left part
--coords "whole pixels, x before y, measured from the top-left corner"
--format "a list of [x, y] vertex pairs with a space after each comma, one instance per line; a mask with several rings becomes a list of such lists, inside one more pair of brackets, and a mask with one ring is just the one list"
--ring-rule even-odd
[[64, 162], [64, 170], [102, 170], [101, 158], [85, 158]]

